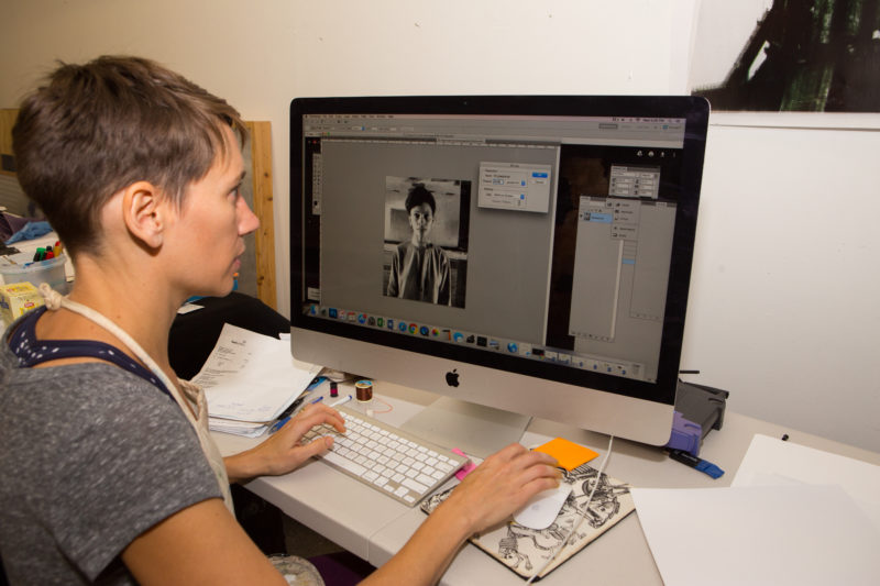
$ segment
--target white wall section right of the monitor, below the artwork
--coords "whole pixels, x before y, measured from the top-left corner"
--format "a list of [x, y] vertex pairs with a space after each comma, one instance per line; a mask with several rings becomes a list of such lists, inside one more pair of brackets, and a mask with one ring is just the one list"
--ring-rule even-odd
[[682, 360], [734, 410], [872, 450], [879, 152], [878, 131], [711, 128]]

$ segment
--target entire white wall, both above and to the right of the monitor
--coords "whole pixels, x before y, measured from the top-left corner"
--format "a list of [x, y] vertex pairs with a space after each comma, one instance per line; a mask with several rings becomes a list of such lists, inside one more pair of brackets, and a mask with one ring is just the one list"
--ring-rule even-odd
[[[695, 3], [0, 0], [0, 106], [56, 58], [131, 53], [270, 120], [289, 314], [292, 98], [681, 92]], [[713, 126], [683, 363], [734, 410], [873, 450], [877, 136]]]

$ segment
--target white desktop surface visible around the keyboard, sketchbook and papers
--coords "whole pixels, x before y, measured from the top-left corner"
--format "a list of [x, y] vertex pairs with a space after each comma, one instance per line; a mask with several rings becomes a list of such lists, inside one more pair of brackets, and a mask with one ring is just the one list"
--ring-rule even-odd
[[[376, 417], [400, 425], [436, 396], [377, 383], [376, 396], [394, 410]], [[326, 387], [322, 387], [326, 391]], [[340, 388], [344, 395], [348, 389]], [[353, 391], [352, 391], [353, 392]], [[376, 403], [375, 409], [382, 410]], [[712, 431], [701, 450], [701, 457], [717, 464], [724, 476], [713, 480], [707, 475], [667, 457], [660, 449], [615, 439], [605, 472], [638, 487], [698, 488], [728, 486], [755, 433], [771, 436], [789, 434], [789, 441], [880, 465], [880, 454], [801, 433], [757, 419], [726, 413], [721, 431]], [[564, 436], [605, 455], [606, 435], [558, 423], [532, 421], [521, 443], [535, 445], [550, 438]], [[216, 433], [224, 455], [248, 449], [256, 440]], [[397, 552], [425, 513], [408, 508], [365, 487], [320, 462], [309, 462], [282, 477], [256, 478], [248, 488], [272, 502], [289, 517], [326, 535], [339, 545], [380, 566]], [[711, 522], [707, 521], [707, 522]], [[588, 544], [574, 557], [541, 581], [549, 586], [580, 584], [662, 584], [660, 574], [639, 526], [638, 516], [629, 515], [607, 533]], [[524, 581], [471, 544], [466, 544], [447, 571], [441, 584], [510, 584]]]

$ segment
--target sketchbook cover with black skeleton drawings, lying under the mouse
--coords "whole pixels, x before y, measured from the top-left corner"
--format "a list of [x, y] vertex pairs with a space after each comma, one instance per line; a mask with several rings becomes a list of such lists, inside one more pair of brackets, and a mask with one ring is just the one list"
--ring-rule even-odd
[[[505, 526], [488, 530], [471, 541], [517, 574], [528, 577], [535, 566], [543, 564], [556, 553], [578, 524], [581, 516], [585, 515], [585, 522], [581, 523], [564, 551], [544, 571], [543, 575], [547, 575], [635, 510], [632, 498], [629, 496], [629, 486], [605, 474], [598, 479], [593, 499], [584, 510], [590, 491], [596, 482], [597, 471], [584, 464], [571, 472], [562, 472], [563, 482], [572, 485], [572, 493], [550, 527], [536, 530], [508, 521]], [[432, 496], [422, 504], [422, 509], [426, 512], [432, 511], [448, 495], [449, 491]]]

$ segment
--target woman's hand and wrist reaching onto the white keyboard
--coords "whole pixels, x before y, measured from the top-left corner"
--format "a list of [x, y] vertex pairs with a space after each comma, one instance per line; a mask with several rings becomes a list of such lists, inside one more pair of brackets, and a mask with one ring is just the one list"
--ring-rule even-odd
[[256, 447], [224, 458], [230, 482], [287, 474], [311, 456], [322, 454], [333, 445], [332, 438], [319, 438], [305, 445], [300, 440], [311, 428], [324, 423], [340, 433], [345, 431], [339, 411], [326, 405], [307, 405]]

